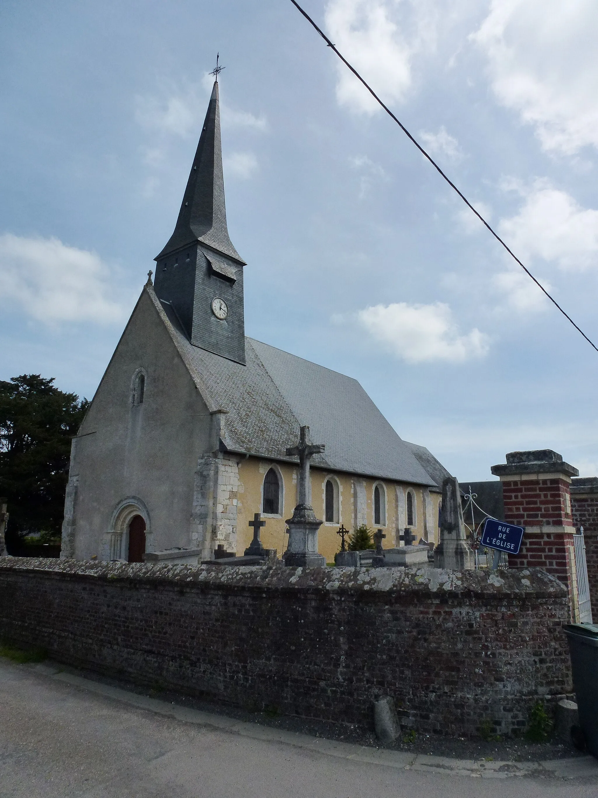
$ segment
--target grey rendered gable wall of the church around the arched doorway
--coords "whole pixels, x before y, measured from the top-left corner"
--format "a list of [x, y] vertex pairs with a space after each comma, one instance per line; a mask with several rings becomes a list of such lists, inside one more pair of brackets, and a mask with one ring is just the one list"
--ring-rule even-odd
[[[140, 367], [144, 403], [132, 407]], [[144, 290], [75, 439], [75, 558], [102, 555], [115, 508], [129, 496], [148, 508], [148, 551], [189, 547], [194, 475], [209, 447], [209, 410]]]

